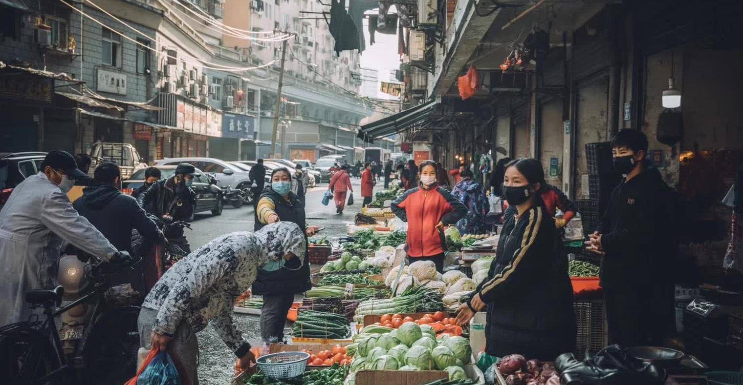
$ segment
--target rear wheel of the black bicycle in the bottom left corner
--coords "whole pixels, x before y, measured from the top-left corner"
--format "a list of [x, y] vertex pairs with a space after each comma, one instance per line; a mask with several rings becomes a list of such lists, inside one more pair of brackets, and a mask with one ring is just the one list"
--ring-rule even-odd
[[[0, 378], [5, 384], [68, 384], [68, 372], [48, 335], [30, 323], [0, 329]], [[46, 375], [57, 371], [50, 378]]]

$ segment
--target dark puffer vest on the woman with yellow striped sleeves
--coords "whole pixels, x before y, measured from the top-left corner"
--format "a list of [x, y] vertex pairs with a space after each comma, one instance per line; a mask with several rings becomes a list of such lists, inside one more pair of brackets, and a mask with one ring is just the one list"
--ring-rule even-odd
[[[299, 199], [293, 192], [289, 192], [289, 201], [284, 199], [279, 193], [273, 191], [270, 186], [266, 186], [261, 194], [260, 200], [269, 199], [273, 202], [273, 211], [279, 215], [284, 222], [296, 223], [299, 228], [305, 228], [305, 203]], [[265, 226], [258, 218], [258, 210], [255, 214], [255, 231]], [[305, 235], [305, 240], [307, 236]], [[292, 258], [286, 265], [276, 272], [266, 272], [258, 269], [258, 277], [253, 283], [253, 294], [284, 294], [284, 293], [302, 293], [311, 288], [310, 283], [310, 260], [305, 250], [305, 260], [302, 267], [299, 268], [299, 260]]]

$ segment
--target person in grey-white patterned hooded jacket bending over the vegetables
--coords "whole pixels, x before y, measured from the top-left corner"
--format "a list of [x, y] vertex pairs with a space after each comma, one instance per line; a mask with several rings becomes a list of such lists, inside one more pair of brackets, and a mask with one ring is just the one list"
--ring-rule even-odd
[[256, 280], [258, 269], [275, 271], [293, 257], [304, 260], [305, 250], [304, 231], [291, 222], [225, 234], [201, 246], [163, 274], [145, 298], [137, 322], [141, 346], [167, 350], [181, 381], [198, 384], [195, 333], [211, 321], [247, 369], [256, 358], [233, 322], [233, 303]]

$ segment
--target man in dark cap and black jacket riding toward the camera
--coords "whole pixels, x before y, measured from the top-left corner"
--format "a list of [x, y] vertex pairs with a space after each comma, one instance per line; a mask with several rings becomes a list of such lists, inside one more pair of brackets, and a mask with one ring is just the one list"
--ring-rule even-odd
[[[153, 183], [147, 191], [140, 194], [137, 202], [149, 214], [162, 218], [169, 216], [173, 221], [192, 220], [196, 194], [191, 189], [196, 169], [189, 163], [181, 163], [175, 174], [166, 180]], [[191, 252], [183, 228], [170, 228], [165, 237], [187, 253]]]

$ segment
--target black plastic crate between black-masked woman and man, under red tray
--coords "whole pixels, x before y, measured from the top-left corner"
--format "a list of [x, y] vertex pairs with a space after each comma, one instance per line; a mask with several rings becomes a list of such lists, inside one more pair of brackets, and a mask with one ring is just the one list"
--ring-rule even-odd
[[609, 343], [609, 327], [603, 299], [574, 300], [573, 309], [577, 329], [573, 354], [582, 360], [586, 352], [594, 355]]

